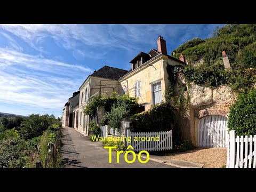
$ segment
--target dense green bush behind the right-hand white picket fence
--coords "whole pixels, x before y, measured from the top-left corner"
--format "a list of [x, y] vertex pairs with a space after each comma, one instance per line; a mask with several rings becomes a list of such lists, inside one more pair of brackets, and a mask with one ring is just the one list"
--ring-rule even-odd
[[228, 128], [235, 130], [236, 135], [256, 134], [256, 90], [241, 93], [230, 107]]

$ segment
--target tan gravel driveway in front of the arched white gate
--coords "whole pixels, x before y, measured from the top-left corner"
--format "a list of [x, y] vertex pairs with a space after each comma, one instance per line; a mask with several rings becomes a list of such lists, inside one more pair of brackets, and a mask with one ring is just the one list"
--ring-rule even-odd
[[188, 162], [203, 163], [203, 168], [221, 168], [226, 164], [227, 149], [198, 147], [177, 154], [169, 154], [165, 157]]

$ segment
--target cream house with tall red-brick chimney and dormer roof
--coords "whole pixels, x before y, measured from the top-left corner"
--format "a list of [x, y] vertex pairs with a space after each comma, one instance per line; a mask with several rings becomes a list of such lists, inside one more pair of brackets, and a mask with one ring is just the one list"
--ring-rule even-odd
[[138, 98], [142, 110], [165, 100], [169, 86], [167, 65], [186, 65], [183, 58], [178, 60], [167, 55], [166, 43], [162, 36], [157, 39], [158, 50], [140, 52], [131, 63], [131, 70], [119, 79], [123, 90], [130, 97]]

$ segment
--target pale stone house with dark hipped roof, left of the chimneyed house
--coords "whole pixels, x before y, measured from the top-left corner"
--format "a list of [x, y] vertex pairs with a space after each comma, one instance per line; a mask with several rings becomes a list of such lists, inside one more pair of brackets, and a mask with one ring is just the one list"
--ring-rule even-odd
[[[90, 117], [84, 115], [84, 109], [95, 95], [110, 97], [112, 92], [123, 95], [123, 88], [118, 82], [118, 79], [126, 73], [127, 70], [105, 65], [98, 71], [94, 70], [94, 72], [85, 79], [84, 83], [79, 87], [79, 105], [75, 108], [75, 129], [84, 134], [88, 134]], [[98, 111], [98, 119], [100, 119], [104, 113], [104, 108], [100, 108]], [[97, 119], [95, 121], [97, 121]]]

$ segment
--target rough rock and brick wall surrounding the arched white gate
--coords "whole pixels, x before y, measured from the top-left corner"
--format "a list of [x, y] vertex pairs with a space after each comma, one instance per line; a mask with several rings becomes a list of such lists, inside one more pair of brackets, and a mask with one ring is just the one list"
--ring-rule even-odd
[[[178, 74], [178, 82], [184, 82], [182, 74]], [[196, 143], [196, 130], [198, 120], [207, 115], [221, 115], [228, 117], [229, 107], [232, 106], [237, 98], [237, 94], [227, 85], [221, 85], [218, 88], [209, 88], [199, 86], [195, 83], [187, 83], [190, 102], [188, 117], [179, 119], [178, 124], [182, 126], [183, 140], [190, 140]], [[180, 87], [178, 83], [174, 86], [174, 93], [178, 95]]]

